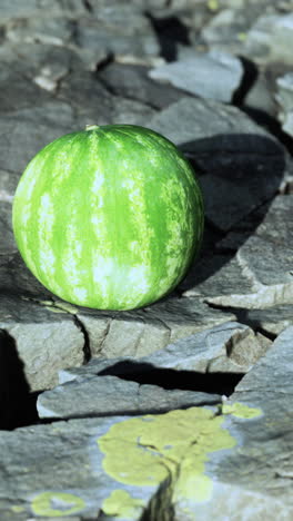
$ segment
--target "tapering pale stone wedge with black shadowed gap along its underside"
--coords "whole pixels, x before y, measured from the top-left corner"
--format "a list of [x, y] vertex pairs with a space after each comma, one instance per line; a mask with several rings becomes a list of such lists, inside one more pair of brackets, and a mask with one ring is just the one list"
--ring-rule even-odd
[[[142, 356], [92, 358], [82, 367], [59, 372], [61, 384], [82, 381], [93, 375], [114, 375], [141, 383], [153, 383], [164, 389], [209, 390], [229, 393], [228, 374], [231, 383], [250, 371], [254, 362], [263, 356], [271, 342], [240, 323], [226, 322], [220, 326], [168, 344], [163, 350]], [[233, 384], [232, 384], [233, 385]], [[40, 396], [42, 401], [42, 395]]]

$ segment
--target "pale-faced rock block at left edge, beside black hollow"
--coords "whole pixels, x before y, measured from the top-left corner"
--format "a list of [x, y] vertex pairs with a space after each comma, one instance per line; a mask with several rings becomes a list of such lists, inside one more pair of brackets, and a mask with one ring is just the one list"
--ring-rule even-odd
[[[0, 328], [9, 335], [19, 358], [19, 372], [31, 391], [53, 387], [58, 371], [81, 365], [84, 337], [70, 314], [51, 313], [31, 301], [0, 296]], [[9, 364], [9, 346], [2, 346], [2, 363]]]

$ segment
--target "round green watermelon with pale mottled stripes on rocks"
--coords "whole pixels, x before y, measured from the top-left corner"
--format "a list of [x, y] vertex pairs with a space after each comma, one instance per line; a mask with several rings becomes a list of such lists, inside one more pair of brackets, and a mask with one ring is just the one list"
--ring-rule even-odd
[[133, 125], [88, 126], [40, 150], [12, 208], [20, 254], [54, 295], [133, 309], [172, 291], [199, 252], [203, 199], [190, 164]]

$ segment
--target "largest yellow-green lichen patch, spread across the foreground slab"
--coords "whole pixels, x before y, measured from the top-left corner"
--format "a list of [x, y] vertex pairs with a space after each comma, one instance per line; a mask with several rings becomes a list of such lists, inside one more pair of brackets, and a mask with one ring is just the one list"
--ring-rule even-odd
[[212, 492], [204, 474], [210, 453], [236, 444], [223, 421], [212, 410], [191, 407], [115, 423], [98, 440], [103, 468], [114, 480], [138, 486], [171, 476], [172, 501], [205, 501]]

